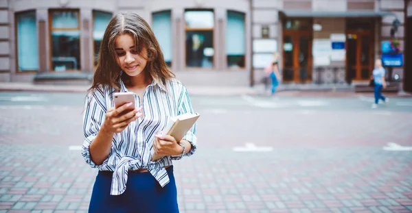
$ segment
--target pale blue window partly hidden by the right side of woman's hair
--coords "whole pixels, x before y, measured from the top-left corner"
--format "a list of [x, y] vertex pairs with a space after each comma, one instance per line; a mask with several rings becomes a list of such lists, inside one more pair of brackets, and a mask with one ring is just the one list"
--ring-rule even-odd
[[154, 13], [152, 26], [163, 52], [163, 58], [169, 67], [172, 66], [172, 21], [170, 15], [170, 11]]

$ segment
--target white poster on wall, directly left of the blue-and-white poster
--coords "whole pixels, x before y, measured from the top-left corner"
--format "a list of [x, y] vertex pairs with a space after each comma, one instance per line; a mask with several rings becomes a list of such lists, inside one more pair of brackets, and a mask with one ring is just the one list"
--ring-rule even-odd
[[313, 65], [328, 66], [330, 65], [330, 54], [332, 45], [330, 39], [315, 38], [312, 45]]

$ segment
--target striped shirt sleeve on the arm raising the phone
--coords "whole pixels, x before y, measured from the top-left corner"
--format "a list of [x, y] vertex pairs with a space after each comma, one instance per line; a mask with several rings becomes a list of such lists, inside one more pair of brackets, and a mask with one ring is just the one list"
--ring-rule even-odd
[[95, 162], [91, 160], [89, 147], [91, 142], [98, 136], [100, 127], [106, 116], [106, 110], [103, 108], [104, 105], [102, 105], [104, 99], [102, 100], [99, 97], [103, 96], [89, 93], [84, 103], [83, 112], [84, 141], [82, 145], [82, 155], [87, 164], [93, 168], [99, 168], [101, 165], [96, 165]]

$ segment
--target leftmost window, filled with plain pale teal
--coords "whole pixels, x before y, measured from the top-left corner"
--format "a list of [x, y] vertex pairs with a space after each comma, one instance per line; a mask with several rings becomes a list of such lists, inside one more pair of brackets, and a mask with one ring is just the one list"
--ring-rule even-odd
[[38, 71], [36, 11], [16, 14], [18, 71]]

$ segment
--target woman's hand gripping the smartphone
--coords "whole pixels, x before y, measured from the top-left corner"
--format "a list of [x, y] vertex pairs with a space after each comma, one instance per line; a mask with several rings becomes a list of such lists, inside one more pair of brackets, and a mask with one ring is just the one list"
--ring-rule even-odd
[[[129, 123], [136, 121], [141, 116], [141, 108], [133, 108], [128, 112], [128, 107], [133, 103], [125, 103], [119, 108], [111, 108], [106, 112], [106, 119], [102, 129], [108, 133], [114, 134], [123, 131]], [[124, 113], [122, 113], [124, 112]]]

